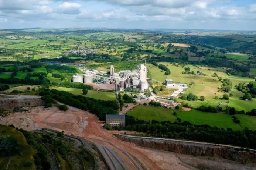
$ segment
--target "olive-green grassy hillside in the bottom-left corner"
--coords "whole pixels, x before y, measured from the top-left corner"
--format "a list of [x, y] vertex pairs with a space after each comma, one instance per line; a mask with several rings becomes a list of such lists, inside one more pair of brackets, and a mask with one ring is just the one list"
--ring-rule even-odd
[[4, 126], [0, 124], [0, 138], [4, 137], [14, 137], [17, 139], [18, 146], [20, 148], [20, 154], [16, 154], [13, 156], [1, 157], [0, 159], [0, 167], [1, 169], [6, 169], [7, 164], [8, 169], [19, 169], [19, 170], [30, 170], [35, 169], [35, 164], [33, 163], [30, 168], [24, 167], [23, 163], [26, 160], [30, 160], [34, 162], [33, 154], [35, 150], [28, 145], [27, 139], [24, 135], [17, 131], [15, 128], [10, 128], [8, 126]]

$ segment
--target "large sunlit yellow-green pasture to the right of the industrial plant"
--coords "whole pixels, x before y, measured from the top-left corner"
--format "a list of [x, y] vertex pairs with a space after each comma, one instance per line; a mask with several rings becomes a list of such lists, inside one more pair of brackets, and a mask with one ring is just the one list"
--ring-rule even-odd
[[[250, 81], [254, 81], [254, 79], [249, 77], [241, 77], [241, 76], [228, 76], [226, 74], [225, 68], [213, 68], [213, 67], [201, 67], [201, 66], [193, 66], [193, 65], [186, 65], [185, 67], [190, 67], [190, 71], [203, 72], [205, 76], [201, 75], [191, 75], [191, 74], [182, 74], [184, 68], [181, 66], [175, 66], [172, 63], [158, 63], [166, 65], [170, 70], [170, 75], [165, 75], [164, 71], [159, 69], [158, 67], [148, 64], [148, 69], [150, 71], [151, 77], [161, 82], [165, 82], [165, 79], [173, 79], [174, 82], [180, 83], [187, 83], [188, 88], [184, 91], [186, 94], [192, 93], [200, 96], [205, 96], [205, 101], [201, 102], [197, 101], [186, 101], [177, 99], [178, 102], [184, 101], [185, 103], [189, 103], [192, 107], [199, 107], [201, 105], [207, 106], [217, 106], [221, 105], [223, 109], [226, 106], [235, 107], [236, 110], [245, 110], [250, 111], [255, 108], [256, 100], [246, 102], [241, 100], [241, 97], [244, 95], [242, 92], [235, 89], [235, 85], [239, 84], [240, 82], [248, 83]], [[221, 81], [218, 80], [218, 77], [212, 76], [214, 73], [217, 73], [223, 79], [228, 78], [232, 81], [233, 88], [230, 93], [233, 94], [233, 97], [228, 100], [215, 100], [214, 97], [218, 96], [219, 98], [222, 97], [224, 94], [221, 91], [218, 91], [218, 87], [221, 86]]]

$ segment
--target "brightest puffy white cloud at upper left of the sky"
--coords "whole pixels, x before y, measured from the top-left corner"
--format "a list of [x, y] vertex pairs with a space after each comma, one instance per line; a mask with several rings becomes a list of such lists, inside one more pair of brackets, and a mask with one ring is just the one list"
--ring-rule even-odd
[[80, 7], [81, 5], [78, 3], [64, 2], [63, 4], [59, 5], [59, 11], [60, 13], [64, 14], [79, 14]]

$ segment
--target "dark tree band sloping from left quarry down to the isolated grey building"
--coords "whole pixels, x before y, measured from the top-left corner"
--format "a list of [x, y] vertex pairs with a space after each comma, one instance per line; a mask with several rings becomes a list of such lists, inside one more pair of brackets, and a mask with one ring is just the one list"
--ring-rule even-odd
[[96, 114], [96, 116], [99, 117], [99, 120], [105, 120], [106, 114], [118, 114], [117, 110], [119, 109], [119, 106], [116, 101], [96, 100], [54, 89], [44, 89], [39, 92], [39, 95], [46, 96], [47, 99], [50, 98], [49, 100], [52, 98], [66, 105], [74, 106], [82, 110], [88, 110], [91, 113]]

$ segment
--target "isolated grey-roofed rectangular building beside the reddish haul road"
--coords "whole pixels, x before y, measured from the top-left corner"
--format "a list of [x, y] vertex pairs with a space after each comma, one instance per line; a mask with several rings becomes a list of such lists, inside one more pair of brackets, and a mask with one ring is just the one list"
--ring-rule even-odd
[[118, 114], [106, 114], [106, 125], [110, 127], [124, 127], [125, 126], [125, 115]]

